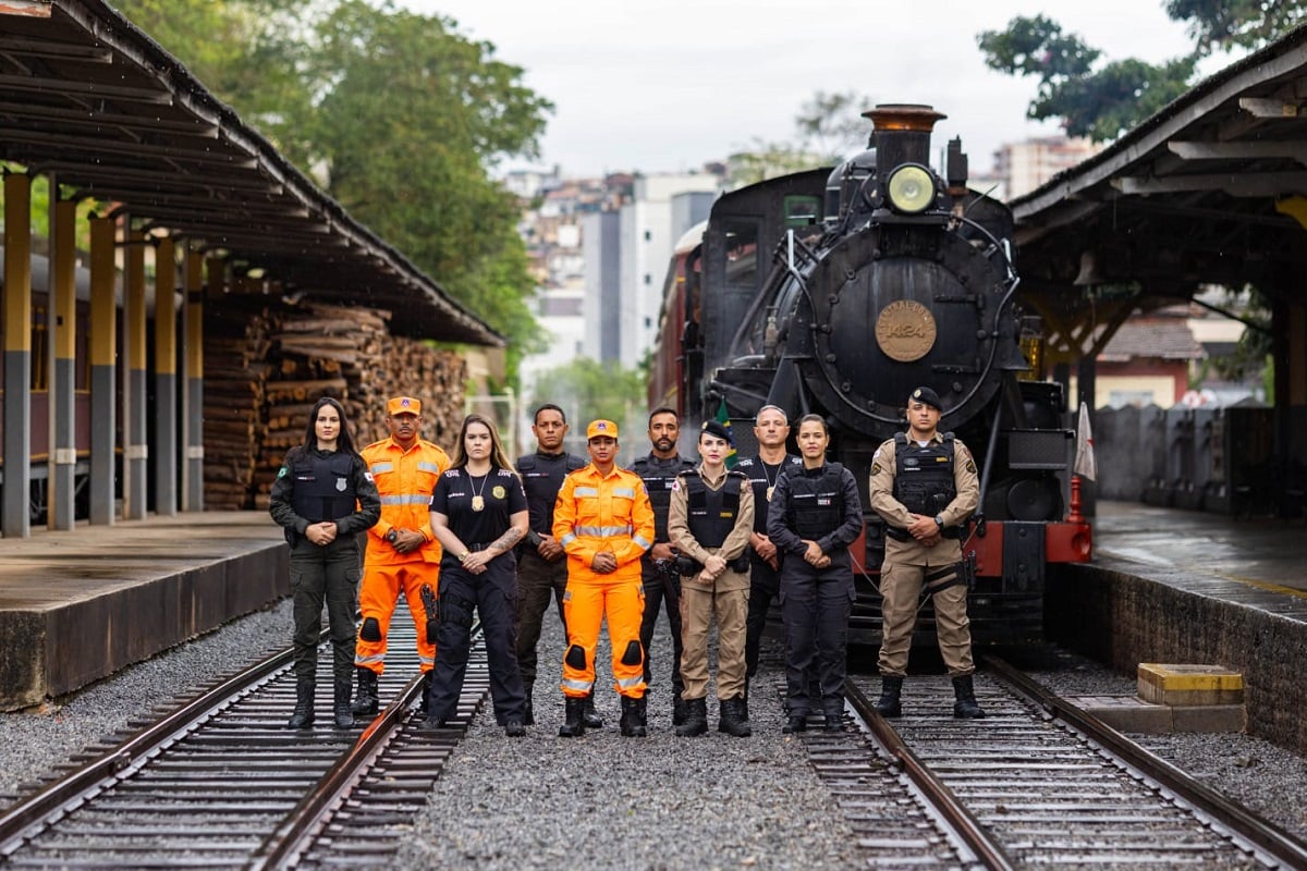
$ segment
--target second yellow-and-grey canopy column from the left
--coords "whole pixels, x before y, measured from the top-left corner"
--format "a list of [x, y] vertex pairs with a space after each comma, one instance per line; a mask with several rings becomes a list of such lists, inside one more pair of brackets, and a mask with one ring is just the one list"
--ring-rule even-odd
[[[55, 200], [59, 185], [50, 179]], [[50, 381], [50, 529], [71, 530], [77, 516], [77, 204], [58, 200], [50, 209], [50, 323], [54, 377]]]

